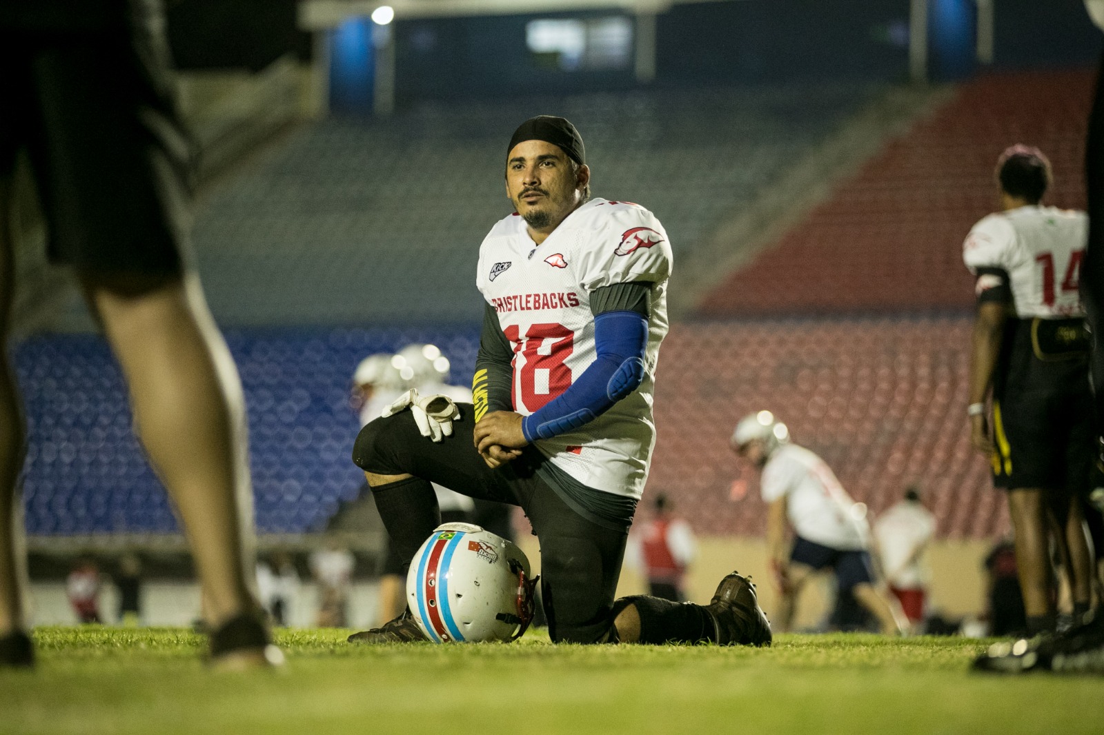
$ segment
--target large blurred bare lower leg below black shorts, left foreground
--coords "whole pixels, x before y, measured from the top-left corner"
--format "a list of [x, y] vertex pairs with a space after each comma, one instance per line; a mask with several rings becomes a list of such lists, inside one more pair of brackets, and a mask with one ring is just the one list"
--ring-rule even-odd
[[82, 280], [123, 368], [138, 435], [183, 522], [208, 622], [256, 609], [242, 386], [199, 281]]

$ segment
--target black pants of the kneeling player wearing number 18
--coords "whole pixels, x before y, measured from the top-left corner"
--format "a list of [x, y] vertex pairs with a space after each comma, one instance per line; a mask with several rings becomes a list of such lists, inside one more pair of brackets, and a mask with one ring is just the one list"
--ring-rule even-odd
[[508, 465], [487, 467], [473, 443], [474, 408], [457, 406], [461, 418], [440, 443], [423, 437], [408, 411], [376, 418], [360, 430], [353, 461], [375, 475], [413, 475], [470, 498], [520, 505], [540, 541], [550, 637], [608, 640], [628, 528], [604, 528], [572, 510], [538, 477], [537, 467], [548, 460], [532, 446]]

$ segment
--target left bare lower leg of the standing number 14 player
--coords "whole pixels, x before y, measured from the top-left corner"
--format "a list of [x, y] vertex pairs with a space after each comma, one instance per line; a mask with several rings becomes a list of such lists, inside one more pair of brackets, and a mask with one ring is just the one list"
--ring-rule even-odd
[[1042, 490], [1017, 488], [1008, 493], [1012, 528], [1016, 529], [1016, 566], [1028, 617], [1051, 616], [1050, 554]]

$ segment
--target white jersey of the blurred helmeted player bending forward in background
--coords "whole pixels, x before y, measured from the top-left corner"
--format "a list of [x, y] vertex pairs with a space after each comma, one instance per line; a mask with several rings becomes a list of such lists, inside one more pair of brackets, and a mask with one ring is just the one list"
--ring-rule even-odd
[[857, 551], [870, 545], [866, 512], [836, 479], [831, 468], [796, 444], [778, 447], [763, 467], [763, 500], [786, 498], [794, 532], [806, 541]]

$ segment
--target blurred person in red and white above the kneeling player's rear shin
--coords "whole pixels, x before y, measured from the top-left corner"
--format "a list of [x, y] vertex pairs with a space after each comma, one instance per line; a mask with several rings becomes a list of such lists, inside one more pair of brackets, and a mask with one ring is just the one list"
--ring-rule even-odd
[[629, 536], [626, 561], [648, 579], [649, 595], [686, 601], [687, 567], [698, 555], [693, 530], [673, 513], [666, 493], [656, 494], [651, 510], [651, 518]]

